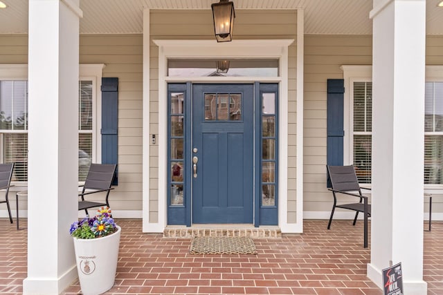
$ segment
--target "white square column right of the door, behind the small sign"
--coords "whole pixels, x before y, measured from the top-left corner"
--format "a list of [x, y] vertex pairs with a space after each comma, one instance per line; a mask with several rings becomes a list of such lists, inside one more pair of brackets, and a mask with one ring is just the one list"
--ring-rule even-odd
[[425, 0], [374, 0], [372, 219], [368, 277], [401, 263], [404, 294], [423, 280]]

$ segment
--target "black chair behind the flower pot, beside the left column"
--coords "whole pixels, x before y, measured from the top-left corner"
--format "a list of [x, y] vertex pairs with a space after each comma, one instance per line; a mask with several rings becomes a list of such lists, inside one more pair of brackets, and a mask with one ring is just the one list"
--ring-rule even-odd
[[[88, 215], [88, 209], [93, 207], [109, 207], [109, 192], [111, 189], [112, 181], [116, 173], [116, 164], [91, 164], [89, 167], [88, 175], [82, 185], [82, 192], [78, 194], [81, 200], [78, 201], [78, 209], [84, 210]], [[89, 201], [85, 200], [85, 196], [90, 196], [93, 193], [105, 194], [105, 200]]]

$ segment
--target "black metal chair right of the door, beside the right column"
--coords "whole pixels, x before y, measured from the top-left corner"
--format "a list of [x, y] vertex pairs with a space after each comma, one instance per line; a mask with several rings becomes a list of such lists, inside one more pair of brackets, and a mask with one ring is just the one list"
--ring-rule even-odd
[[[359, 216], [359, 212], [363, 213], [363, 229], [364, 229], [364, 241], [363, 247], [368, 247], [368, 218], [371, 216], [371, 205], [368, 204], [368, 197], [363, 196], [361, 193], [361, 189], [366, 189], [364, 187], [360, 187], [359, 180], [357, 180], [357, 176], [355, 173], [354, 166], [329, 166], [327, 165], [327, 175], [329, 176], [329, 180], [331, 181], [332, 195], [334, 196], [334, 205], [332, 206], [331, 217], [329, 218], [329, 223], [327, 224], [327, 229], [331, 227], [332, 216], [334, 216], [334, 211], [336, 208], [348, 209], [355, 212], [354, 223], [355, 225], [357, 218]], [[341, 202], [337, 202], [337, 195], [344, 194], [347, 196], [354, 196], [359, 198], [358, 202], [352, 202], [347, 204], [342, 204]]]

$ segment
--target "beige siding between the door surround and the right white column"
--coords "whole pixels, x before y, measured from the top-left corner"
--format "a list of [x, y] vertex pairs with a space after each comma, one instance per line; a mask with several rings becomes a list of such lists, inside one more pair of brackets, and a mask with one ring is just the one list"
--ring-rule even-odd
[[343, 79], [344, 64], [372, 64], [371, 36], [305, 37], [304, 194], [305, 211], [330, 211], [326, 189], [327, 79]]

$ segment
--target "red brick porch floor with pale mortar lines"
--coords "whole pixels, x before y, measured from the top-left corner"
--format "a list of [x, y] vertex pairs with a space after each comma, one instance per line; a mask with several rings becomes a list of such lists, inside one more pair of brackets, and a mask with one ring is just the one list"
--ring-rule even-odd
[[[141, 220], [116, 221], [123, 229], [116, 284], [106, 294], [382, 294], [365, 276], [362, 222], [334, 220], [327, 231], [327, 220], [305, 220], [304, 234], [254, 238], [257, 255], [202, 256], [189, 253], [189, 238], [142, 234]], [[0, 228], [0, 294], [21, 294], [27, 230], [6, 218]], [[424, 280], [428, 295], [443, 294], [443, 222], [424, 231]], [[81, 294], [78, 280], [63, 294]]]

